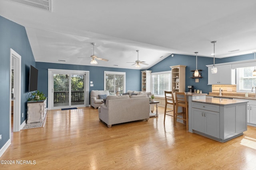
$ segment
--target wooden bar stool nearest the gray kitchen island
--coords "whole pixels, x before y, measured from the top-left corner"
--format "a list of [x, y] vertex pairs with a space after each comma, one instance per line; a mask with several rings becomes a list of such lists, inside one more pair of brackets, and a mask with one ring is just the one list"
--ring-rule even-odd
[[[186, 93], [176, 92], [175, 99], [176, 99], [176, 112], [174, 116], [175, 118], [174, 126], [176, 126], [177, 118], [182, 119], [183, 123], [186, 124], [186, 129], [188, 131], [188, 102], [186, 99]], [[182, 112], [178, 113], [178, 107], [182, 107]], [[178, 115], [183, 115], [183, 118], [178, 117]]]

